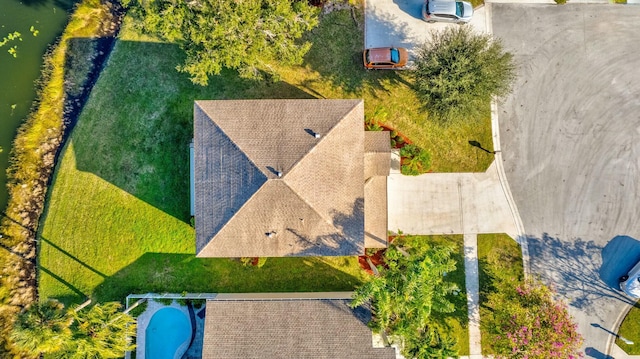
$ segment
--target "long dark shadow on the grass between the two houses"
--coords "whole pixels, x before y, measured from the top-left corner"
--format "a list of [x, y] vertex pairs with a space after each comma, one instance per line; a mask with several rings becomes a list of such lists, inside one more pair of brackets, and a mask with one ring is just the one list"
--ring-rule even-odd
[[[357, 265], [357, 263], [355, 264]], [[105, 278], [92, 293], [97, 301], [123, 301], [132, 293], [253, 293], [351, 291], [360, 280], [322, 257], [269, 258], [261, 268], [237, 259], [191, 254], [145, 253]]]

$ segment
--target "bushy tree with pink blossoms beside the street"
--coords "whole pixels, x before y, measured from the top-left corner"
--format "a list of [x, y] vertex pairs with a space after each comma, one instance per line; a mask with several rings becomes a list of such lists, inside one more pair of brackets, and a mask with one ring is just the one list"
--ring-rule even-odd
[[522, 285], [501, 281], [489, 295], [486, 319], [491, 347], [498, 358], [579, 358], [582, 337], [567, 307], [536, 281]]

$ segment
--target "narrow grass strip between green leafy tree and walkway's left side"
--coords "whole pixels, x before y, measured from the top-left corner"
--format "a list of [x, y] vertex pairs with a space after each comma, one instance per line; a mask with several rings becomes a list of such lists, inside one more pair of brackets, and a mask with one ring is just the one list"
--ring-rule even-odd
[[431, 246], [454, 244], [456, 250], [452, 258], [456, 261], [456, 270], [448, 273], [446, 279], [458, 285], [460, 292], [450, 296], [455, 311], [453, 313], [432, 313], [432, 318], [447, 328], [448, 334], [456, 338], [459, 355], [469, 355], [469, 315], [467, 313], [467, 292], [464, 275], [464, 239], [462, 235], [412, 236]]

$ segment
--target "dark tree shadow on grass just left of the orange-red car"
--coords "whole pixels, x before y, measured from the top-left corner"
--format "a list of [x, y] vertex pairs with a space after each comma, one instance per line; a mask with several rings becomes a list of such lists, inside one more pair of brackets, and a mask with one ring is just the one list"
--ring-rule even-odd
[[[366, 70], [363, 65], [362, 27], [363, 19], [354, 21], [349, 10], [338, 10], [323, 15], [320, 24], [305, 36], [305, 40], [312, 43], [311, 49], [305, 56], [304, 64], [321, 75], [321, 79], [329, 80], [334, 87], [344, 92], [359, 96], [363, 90], [375, 91], [386, 89], [385, 84], [404, 83], [407, 81], [398, 71], [394, 70]], [[390, 33], [393, 25], [388, 21]], [[403, 44], [394, 44], [401, 46]], [[309, 79], [301, 83], [305, 90], [315, 95], [322, 94], [313, 90], [314, 83]]]

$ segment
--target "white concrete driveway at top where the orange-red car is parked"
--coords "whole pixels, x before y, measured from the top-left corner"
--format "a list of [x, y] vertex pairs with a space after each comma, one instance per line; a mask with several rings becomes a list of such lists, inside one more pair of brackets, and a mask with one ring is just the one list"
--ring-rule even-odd
[[[440, 31], [456, 24], [428, 24], [422, 20], [424, 0], [366, 0], [364, 46], [404, 47], [413, 55], [419, 44], [431, 37], [432, 31]], [[478, 31], [486, 32], [485, 9], [475, 9], [470, 24]]]

